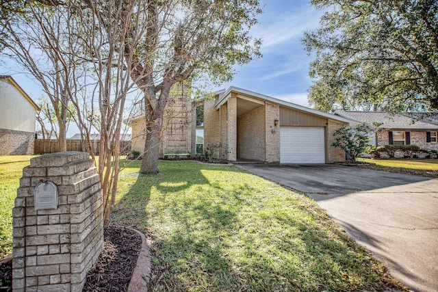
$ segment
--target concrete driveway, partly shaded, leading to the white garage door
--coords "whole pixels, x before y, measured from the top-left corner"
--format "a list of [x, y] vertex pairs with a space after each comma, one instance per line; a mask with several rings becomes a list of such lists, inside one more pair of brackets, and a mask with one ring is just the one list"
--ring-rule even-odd
[[341, 165], [236, 165], [305, 192], [413, 291], [438, 291], [438, 179]]

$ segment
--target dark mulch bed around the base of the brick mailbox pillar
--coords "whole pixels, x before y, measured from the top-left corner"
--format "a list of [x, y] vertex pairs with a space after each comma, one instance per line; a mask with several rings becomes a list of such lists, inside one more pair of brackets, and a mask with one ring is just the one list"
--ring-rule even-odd
[[[105, 230], [102, 252], [88, 271], [83, 291], [127, 291], [136, 267], [142, 238], [123, 226]], [[0, 265], [0, 292], [12, 291], [12, 261]]]

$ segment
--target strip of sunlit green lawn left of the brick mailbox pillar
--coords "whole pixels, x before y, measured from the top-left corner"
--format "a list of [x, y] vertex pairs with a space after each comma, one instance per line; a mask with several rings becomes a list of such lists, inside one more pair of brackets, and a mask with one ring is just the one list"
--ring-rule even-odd
[[0, 258], [12, 252], [12, 208], [23, 168], [33, 155], [0, 156]]

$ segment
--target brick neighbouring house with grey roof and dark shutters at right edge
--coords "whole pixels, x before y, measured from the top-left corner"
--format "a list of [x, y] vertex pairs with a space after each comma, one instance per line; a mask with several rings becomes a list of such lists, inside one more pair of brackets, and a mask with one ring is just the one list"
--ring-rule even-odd
[[420, 114], [390, 116], [382, 111], [336, 111], [337, 115], [379, 126], [372, 137], [374, 146], [414, 144], [426, 150], [438, 150], [437, 117]]

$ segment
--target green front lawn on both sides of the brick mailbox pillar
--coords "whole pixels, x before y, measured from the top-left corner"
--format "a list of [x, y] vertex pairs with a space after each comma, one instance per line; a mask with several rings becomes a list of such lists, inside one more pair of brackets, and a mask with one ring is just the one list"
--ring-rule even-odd
[[[9, 211], [27, 163], [0, 163], [2, 178], [19, 169], [8, 189], [0, 182], [8, 193], [1, 196], [8, 211], [0, 218], [2, 256], [10, 251]], [[162, 172], [151, 175], [139, 168], [130, 163], [120, 174], [112, 224], [151, 239], [153, 291], [401, 289], [305, 195], [233, 166], [160, 161]]]

